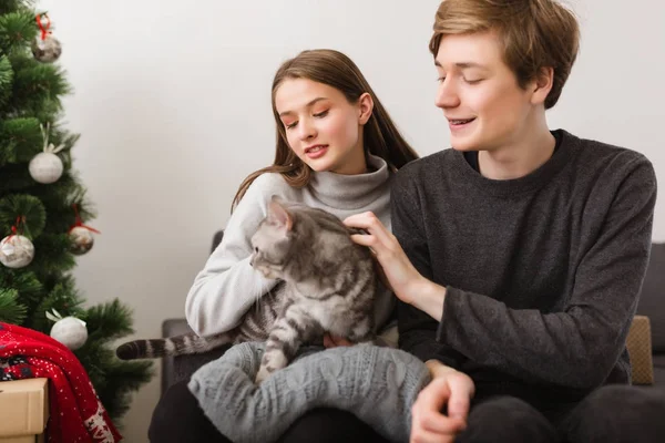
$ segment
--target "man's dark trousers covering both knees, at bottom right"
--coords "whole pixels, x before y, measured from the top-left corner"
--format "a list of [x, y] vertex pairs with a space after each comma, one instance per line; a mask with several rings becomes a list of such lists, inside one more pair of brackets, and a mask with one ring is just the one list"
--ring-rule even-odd
[[514, 396], [493, 396], [472, 405], [467, 430], [456, 442], [665, 442], [665, 394], [607, 385], [574, 406], [544, 412]]

